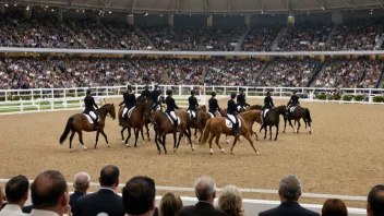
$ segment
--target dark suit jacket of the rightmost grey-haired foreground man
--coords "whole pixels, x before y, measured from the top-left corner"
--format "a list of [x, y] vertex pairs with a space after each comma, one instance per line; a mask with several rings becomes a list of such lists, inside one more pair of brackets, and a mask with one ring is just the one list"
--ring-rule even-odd
[[301, 207], [298, 202], [284, 202], [275, 208], [259, 213], [259, 216], [320, 216], [320, 214]]

